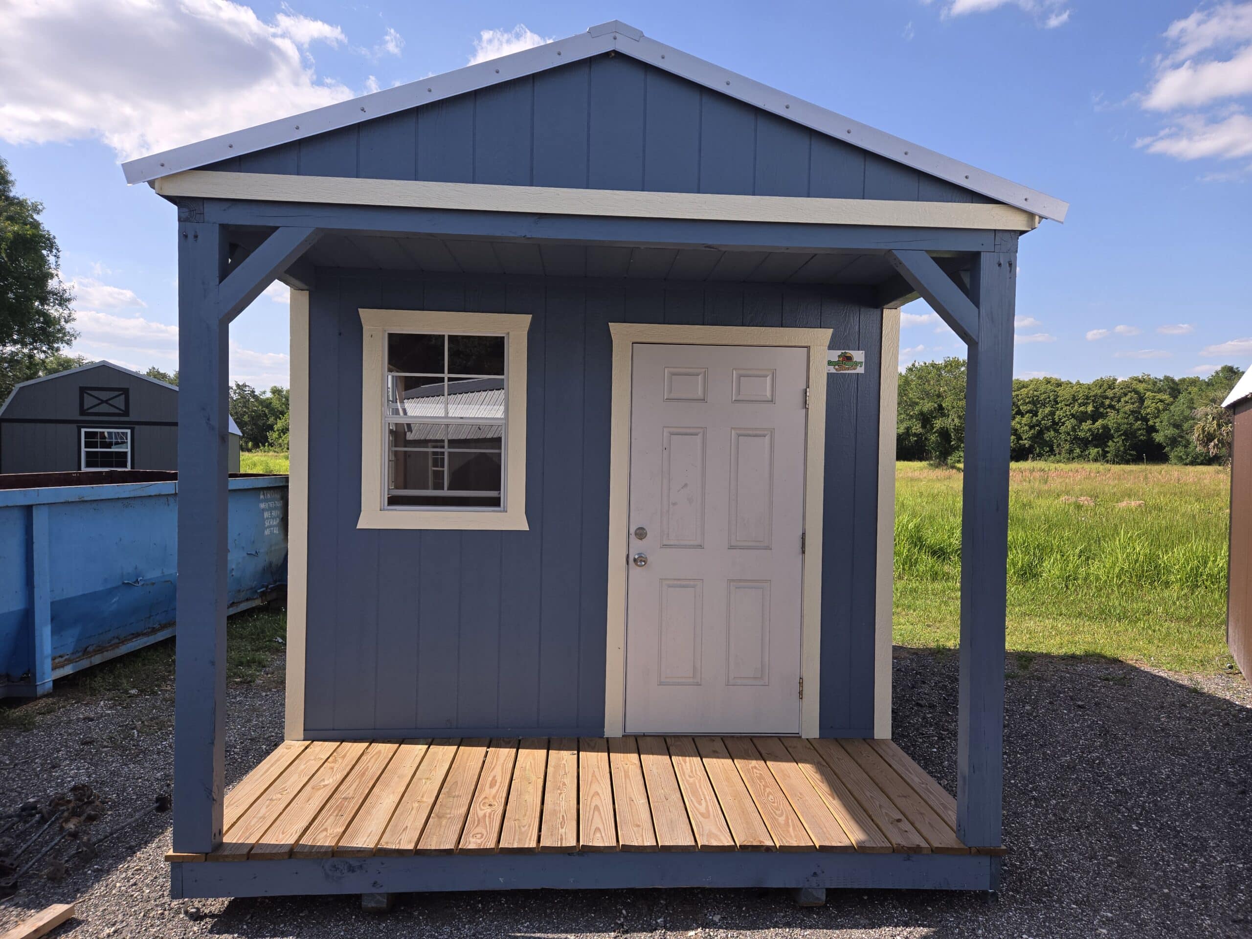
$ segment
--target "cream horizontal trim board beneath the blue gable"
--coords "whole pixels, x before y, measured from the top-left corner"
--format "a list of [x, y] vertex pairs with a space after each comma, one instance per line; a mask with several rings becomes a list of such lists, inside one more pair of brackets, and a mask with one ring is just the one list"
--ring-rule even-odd
[[1012, 205], [983, 203], [558, 189], [491, 183], [429, 183], [413, 179], [219, 173], [199, 169], [164, 177], [158, 179], [154, 187], [165, 197], [197, 199], [393, 205], [411, 209], [541, 215], [974, 228], [1012, 232], [1029, 232], [1039, 224], [1039, 217], [1029, 212]]

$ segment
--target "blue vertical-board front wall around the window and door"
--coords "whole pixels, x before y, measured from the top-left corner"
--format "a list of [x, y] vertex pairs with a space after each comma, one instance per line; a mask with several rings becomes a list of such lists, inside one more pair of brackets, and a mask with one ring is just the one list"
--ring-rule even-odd
[[[322, 269], [310, 298], [310, 734], [603, 730], [611, 322], [830, 327], [821, 729], [873, 734], [880, 310], [834, 288]], [[523, 532], [361, 531], [358, 307], [528, 313]], [[851, 527], [853, 533], [849, 533]], [[858, 558], [860, 561], [858, 562]], [[421, 731], [421, 732], [418, 732]]]

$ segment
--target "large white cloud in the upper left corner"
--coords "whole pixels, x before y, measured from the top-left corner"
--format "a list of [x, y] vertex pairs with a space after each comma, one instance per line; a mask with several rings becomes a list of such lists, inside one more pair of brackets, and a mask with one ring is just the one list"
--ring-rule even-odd
[[289, 9], [265, 23], [229, 0], [0, 4], [0, 139], [15, 144], [90, 138], [130, 159], [352, 96], [308, 53], [342, 30]]

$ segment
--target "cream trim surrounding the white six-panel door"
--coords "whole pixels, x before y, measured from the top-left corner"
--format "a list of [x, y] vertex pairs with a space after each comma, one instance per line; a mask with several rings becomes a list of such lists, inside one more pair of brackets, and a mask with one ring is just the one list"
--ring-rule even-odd
[[[821, 659], [821, 505], [825, 480], [826, 349], [830, 329], [739, 326], [660, 326], [610, 323], [613, 342], [612, 418], [608, 464], [608, 603], [605, 667], [605, 736], [621, 736], [626, 720], [626, 555], [630, 543], [631, 347], [635, 343], [685, 346], [790, 346], [809, 349], [809, 411], [805, 429], [800, 675], [800, 735], [820, 734]], [[811, 419], [813, 416], [820, 419]]]

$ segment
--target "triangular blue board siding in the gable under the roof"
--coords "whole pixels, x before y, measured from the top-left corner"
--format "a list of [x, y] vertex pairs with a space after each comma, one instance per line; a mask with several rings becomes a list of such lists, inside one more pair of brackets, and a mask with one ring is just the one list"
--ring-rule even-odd
[[205, 169], [994, 202], [626, 55], [562, 65]]

